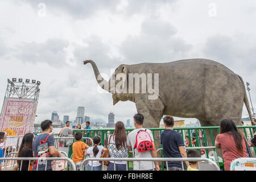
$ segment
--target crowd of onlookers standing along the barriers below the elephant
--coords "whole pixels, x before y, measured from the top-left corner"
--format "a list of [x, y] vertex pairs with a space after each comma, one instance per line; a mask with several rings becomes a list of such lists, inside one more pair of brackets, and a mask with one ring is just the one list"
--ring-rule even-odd
[[[150, 130], [143, 127], [144, 117], [142, 114], [134, 115], [135, 129], [128, 135], [125, 131], [125, 125], [123, 122], [118, 121], [115, 123], [114, 133], [109, 135], [108, 138], [108, 150], [110, 158], [127, 158], [128, 151], [133, 153], [134, 158], [157, 158], [156, 147], [154, 143], [154, 137]], [[200, 152], [193, 149], [185, 149], [185, 143], [181, 134], [173, 129], [174, 118], [171, 115], [166, 115], [163, 118], [164, 127], [166, 128], [160, 134], [160, 143], [163, 146], [164, 158], [200, 158]], [[254, 120], [256, 122], [256, 120]], [[90, 129], [90, 123], [86, 123], [84, 129]], [[55, 138], [51, 135], [53, 126], [52, 121], [45, 120], [41, 123], [42, 134], [36, 138], [34, 134], [27, 133], [22, 139], [22, 143], [19, 146], [18, 157], [33, 158], [33, 157], [61, 157], [60, 151], [55, 148]], [[76, 129], [81, 129], [81, 125]], [[66, 131], [67, 130], [67, 131]], [[70, 122], [66, 123], [66, 126], [60, 131], [60, 137], [66, 137], [65, 135], [72, 134]], [[85, 136], [89, 136], [88, 133]], [[86, 141], [82, 141], [82, 131], [77, 131], [73, 136], [76, 140], [72, 143], [72, 160], [76, 164], [78, 170], [85, 156], [90, 158], [100, 158], [102, 152], [107, 148], [101, 146], [101, 137], [96, 135], [93, 138], [93, 146], [86, 144]], [[0, 132], [0, 143], [6, 139], [6, 133]], [[254, 133], [253, 139], [250, 142], [246, 140], [243, 133], [238, 131], [235, 123], [230, 119], [223, 119], [220, 123], [220, 134], [217, 135], [215, 140], [215, 146], [221, 148], [222, 157], [224, 159], [225, 171], [229, 171], [230, 163], [237, 158], [251, 157], [250, 146], [256, 146], [256, 133]], [[3, 157], [2, 148], [0, 148], [0, 158]], [[169, 171], [197, 171], [200, 162], [167, 162], [165, 166], [168, 166]], [[2, 161], [0, 160], [0, 165]], [[115, 166], [114, 166], [115, 165]], [[87, 170], [100, 171], [102, 164], [99, 161], [89, 161], [86, 165]], [[38, 160], [23, 160], [22, 167], [20, 161], [14, 167], [14, 170], [22, 171], [51, 171], [51, 160], [47, 161], [47, 166], [44, 163], [39, 163]], [[126, 171], [127, 161], [109, 161], [108, 171]], [[151, 161], [134, 161], [133, 169], [136, 170], [156, 170], [159, 171], [160, 167], [157, 161], [152, 163]], [[1, 170], [1, 167], [0, 167]]]

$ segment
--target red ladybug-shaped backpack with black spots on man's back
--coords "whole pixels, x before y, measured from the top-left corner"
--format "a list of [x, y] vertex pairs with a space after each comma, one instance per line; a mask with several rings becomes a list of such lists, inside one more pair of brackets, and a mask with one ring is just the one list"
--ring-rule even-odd
[[150, 134], [145, 130], [139, 130], [136, 135], [136, 142], [134, 149], [137, 148], [138, 152], [150, 151], [153, 149], [152, 140]]

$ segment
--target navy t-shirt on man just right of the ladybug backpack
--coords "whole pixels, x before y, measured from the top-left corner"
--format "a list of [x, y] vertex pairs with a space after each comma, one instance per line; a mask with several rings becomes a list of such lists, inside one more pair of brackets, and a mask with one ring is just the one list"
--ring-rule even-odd
[[[185, 145], [179, 132], [166, 129], [161, 133], [160, 140], [163, 145], [164, 158], [182, 158], [179, 147]], [[184, 162], [183, 166], [184, 170], [187, 170]], [[182, 168], [181, 162], [168, 162], [168, 167]]]

